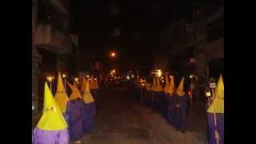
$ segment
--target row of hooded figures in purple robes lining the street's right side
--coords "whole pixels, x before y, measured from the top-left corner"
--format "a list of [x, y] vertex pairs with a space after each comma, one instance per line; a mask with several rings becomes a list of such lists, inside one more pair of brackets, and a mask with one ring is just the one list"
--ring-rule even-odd
[[[170, 78], [170, 80], [169, 80]], [[166, 116], [170, 125], [176, 130], [185, 133], [187, 119], [190, 111], [189, 94], [184, 91], [184, 77], [178, 85], [174, 86], [174, 77], [166, 75], [166, 85], [161, 86], [158, 77], [154, 77], [153, 84], [146, 82], [142, 88], [142, 102], [147, 106]], [[224, 144], [224, 82], [222, 74], [218, 78], [217, 86], [207, 97], [206, 115], [207, 115], [207, 140], [208, 144]]]

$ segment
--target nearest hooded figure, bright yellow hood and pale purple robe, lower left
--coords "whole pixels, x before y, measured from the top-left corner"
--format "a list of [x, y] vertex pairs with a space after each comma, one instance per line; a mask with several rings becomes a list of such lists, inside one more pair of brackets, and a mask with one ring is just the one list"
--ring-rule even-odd
[[33, 130], [33, 144], [69, 144], [69, 132], [65, 118], [59, 109], [53, 94], [45, 83], [45, 95], [42, 117]]

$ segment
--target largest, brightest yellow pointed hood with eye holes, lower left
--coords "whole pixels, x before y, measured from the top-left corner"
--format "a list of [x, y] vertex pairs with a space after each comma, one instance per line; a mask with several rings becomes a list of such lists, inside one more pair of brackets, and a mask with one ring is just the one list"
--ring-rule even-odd
[[47, 83], [45, 83], [42, 117], [40, 118], [37, 127], [41, 130], [63, 130], [67, 128], [66, 121], [55, 102]]

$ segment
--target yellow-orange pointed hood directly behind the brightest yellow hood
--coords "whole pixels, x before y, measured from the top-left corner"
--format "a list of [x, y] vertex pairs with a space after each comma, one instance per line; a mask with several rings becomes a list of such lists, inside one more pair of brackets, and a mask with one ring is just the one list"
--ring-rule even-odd
[[63, 82], [62, 82], [62, 75], [58, 72], [58, 84], [57, 84], [57, 91], [55, 93], [55, 101], [57, 102], [59, 109], [62, 113], [66, 112], [66, 103], [69, 102], [69, 98], [66, 95], [66, 90], [64, 89]]

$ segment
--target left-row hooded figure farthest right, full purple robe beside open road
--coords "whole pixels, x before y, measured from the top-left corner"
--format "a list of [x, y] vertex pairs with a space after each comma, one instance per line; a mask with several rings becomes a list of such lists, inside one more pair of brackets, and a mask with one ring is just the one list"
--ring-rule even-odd
[[90, 94], [89, 80], [86, 82], [85, 91], [82, 94], [84, 102], [84, 112], [83, 112], [83, 132], [84, 134], [90, 134], [90, 131], [94, 127], [94, 115], [96, 114], [96, 106], [94, 103], [94, 98]]

